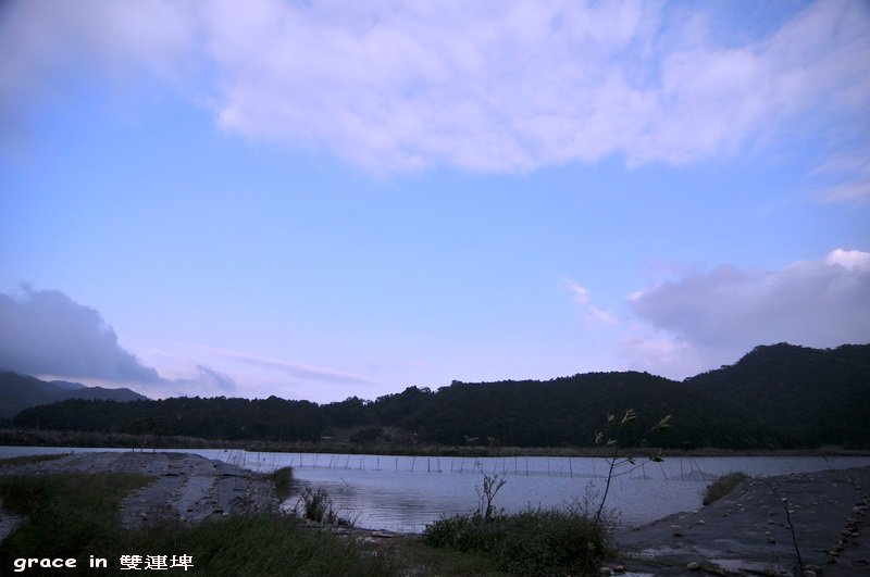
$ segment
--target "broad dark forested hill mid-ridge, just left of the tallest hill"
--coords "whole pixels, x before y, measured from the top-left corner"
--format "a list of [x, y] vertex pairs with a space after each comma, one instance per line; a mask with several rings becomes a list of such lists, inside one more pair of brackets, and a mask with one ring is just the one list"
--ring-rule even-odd
[[635, 437], [672, 414], [680, 426], [648, 439], [667, 447], [770, 447], [775, 439], [736, 410], [711, 403], [682, 382], [647, 373], [588, 373], [548, 381], [464, 384], [437, 392], [408, 389], [371, 407], [376, 423], [391, 423], [444, 444], [515, 447], [593, 444], [609, 413], [638, 415]]

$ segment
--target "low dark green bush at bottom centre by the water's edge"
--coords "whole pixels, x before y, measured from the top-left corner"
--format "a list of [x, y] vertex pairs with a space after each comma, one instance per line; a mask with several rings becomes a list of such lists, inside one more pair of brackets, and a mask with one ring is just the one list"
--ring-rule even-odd
[[518, 575], [581, 573], [607, 553], [604, 530], [569, 510], [445, 517], [426, 527], [423, 539], [432, 547], [483, 553], [500, 570]]

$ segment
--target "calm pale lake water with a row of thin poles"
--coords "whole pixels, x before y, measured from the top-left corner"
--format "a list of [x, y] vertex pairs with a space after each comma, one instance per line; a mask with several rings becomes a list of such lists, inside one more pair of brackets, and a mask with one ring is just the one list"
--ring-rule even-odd
[[[21, 454], [105, 451], [0, 447], [0, 457]], [[594, 457], [426, 457], [312, 453], [256, 453], [220, 449], [176, 450], [220, 459], [254, 471], [294, 468], [297, 494], [304, 486], [323, 488], [335, 509], [358, 526], [418, 532], [442, 515], [477, 509], [483, 473], [498, 475], [507, 484], [495, 504], [513, 512], [582, 503], [604, 491], [608, 464]], [[627, 526], [642, 525], [701, 504], [704, 489], [719, 475], [743, 472], [753, 476], [806, 473], [825, 468], [870, 465], [870, 456], [751, 456], [669, 457], [664, 463], [643, 460], [620, 471], [613, 480], [608, 506]], [[597, 504], [597, 501], [593, 501]]]

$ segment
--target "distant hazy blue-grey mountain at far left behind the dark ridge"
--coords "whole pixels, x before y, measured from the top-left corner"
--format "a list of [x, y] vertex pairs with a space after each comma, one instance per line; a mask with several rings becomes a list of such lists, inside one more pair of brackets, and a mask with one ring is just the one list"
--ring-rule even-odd
[[126, 388], [85, 387], [79, 382], [45, 381], [17, 373], [0, 373], [0, 418], [10, 418], [28, 406], [65, 399], [134, 401], [148, 398]]

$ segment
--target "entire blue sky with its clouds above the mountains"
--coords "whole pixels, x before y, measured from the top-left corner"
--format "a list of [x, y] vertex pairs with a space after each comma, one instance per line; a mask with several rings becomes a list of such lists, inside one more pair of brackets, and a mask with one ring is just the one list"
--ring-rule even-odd
[[870, 3], [9, 1], [0, 367], [374, 400], [870, 342]]

